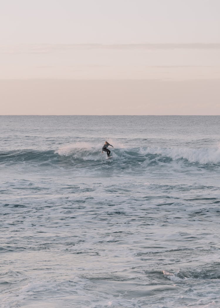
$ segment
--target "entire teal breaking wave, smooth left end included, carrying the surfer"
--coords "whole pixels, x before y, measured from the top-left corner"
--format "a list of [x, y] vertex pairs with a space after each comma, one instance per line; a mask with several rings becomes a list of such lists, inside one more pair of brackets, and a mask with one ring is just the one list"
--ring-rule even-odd
[[[199, 164], [220, 164], [220, 147], [213, 148], [187, 148], [187, 147], [136, 147], [136, 148], [110, 148], [112, 159], [120, 161], [120, 163], [147, 162], [169, 163], [173, 160], [183, 160], [186, 163]], [[50, 162], [56, 164], [58, 162], [86, 162], [92, 161], [99, 164], [106, 162], [106, 154], [101, 153], [100, 146], [92, 146], [89, 144], [66, 145], [58, 150], [16, 150], [8, 152], [0, 152], [0, 163], [16, 164], [21, 162]], [[82, 165], [83, 167], [83, 165]]]

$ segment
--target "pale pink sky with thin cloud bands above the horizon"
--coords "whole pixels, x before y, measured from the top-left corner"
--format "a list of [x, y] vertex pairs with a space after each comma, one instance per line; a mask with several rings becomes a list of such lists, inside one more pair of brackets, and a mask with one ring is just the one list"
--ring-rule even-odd
[[0, 114], [219, 115], [219, 12], [219, 0], [1, 1]]

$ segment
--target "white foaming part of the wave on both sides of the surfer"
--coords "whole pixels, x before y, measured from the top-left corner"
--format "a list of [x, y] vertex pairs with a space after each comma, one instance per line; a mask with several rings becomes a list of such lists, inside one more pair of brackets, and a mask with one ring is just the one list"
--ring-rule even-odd
[[[111, 150], [111, 155], [117, 160], [156, 160], [158, 162], [169, 163], [172, 160], [187, 160], [191, 163], [200, 164], [219, 164], [220, 146], [213, 148], [187, 148], [187, 147], [137, 147], [125, 148], [123, 145], [117, 146]], [[66, 145], [59, 148], [55, 153], [60, 156], [72, 156], [82, 160], [100, 160], [100, 145], [77, 143]], [[104, 157], [106, 154], [104, 153]], [[103, 157], [102, 157], [103, 158]]]

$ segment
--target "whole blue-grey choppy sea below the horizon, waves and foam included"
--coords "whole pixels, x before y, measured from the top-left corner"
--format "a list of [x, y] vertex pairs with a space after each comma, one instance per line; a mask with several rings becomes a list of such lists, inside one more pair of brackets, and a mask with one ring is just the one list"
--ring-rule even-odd
[[219, 124], [0, 116], [1, 307], [220, 307]]

